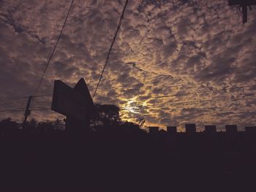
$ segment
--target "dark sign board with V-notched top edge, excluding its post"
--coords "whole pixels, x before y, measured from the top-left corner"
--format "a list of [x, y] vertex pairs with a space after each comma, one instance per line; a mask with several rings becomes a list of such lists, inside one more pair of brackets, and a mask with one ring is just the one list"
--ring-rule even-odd
[[75, 88], [55, 80], [51, 110], [75, 120], [86, 121], [94, 111], [94, 103], [85, 80], [80, 79]]

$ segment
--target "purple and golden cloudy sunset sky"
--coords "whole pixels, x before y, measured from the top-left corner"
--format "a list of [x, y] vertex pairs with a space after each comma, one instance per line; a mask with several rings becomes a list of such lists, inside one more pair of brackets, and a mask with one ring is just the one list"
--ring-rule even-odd
[[[94, 93], [124, 2], [75, 0], [30, 118], [63, 118], [54, 80], [83, 77]], [[0, 0], [0, 119], [22, 120], [70, 4]], [[256, 6], [243, 25], [227, 0], [129, 0], [94, 103], [148, 126], [256, 125], [255, 31]]]

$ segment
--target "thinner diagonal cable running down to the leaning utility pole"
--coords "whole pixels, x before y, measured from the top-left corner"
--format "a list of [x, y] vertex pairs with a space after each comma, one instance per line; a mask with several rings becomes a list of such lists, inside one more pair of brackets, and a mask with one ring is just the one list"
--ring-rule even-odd
[[75, 1], [75, 0], [72, 0], [72, 2], [71, 2], [71, 4], [70, 4], [69, 11], [67, 12], [67, 16], [66, 16], [65, 21], [64, 21], [64, 24], [63, 24], [63, 26], [62, 26], [62, 28], [61, 28], [61, 32], [60, 32], [60, 34], [59, 34], [59, 37], [58, 37], [58, 39], [57, 39], [57, 41], [56, 41], [55, 46], [53, 47], [53, 51], [52, 51], [52, 53], [50, 54], [50, 58], [48, 59], [48, 62], [47, 62], [47, 64], [46, 64], [46, 66], [45, 66], [45, 70], [42, 72], [42, 77], [41, 77], [40, 80], [39, 80], [39, 85], [37, 86], [36, 91], [34, 92], [34, 95], [33, 95], [33, 96], [35, 96], [35, 95], [37, 94], [37, 91], [39, 90], [39, 88], [40, 88], [40, 86], [41, 86], [41, 84], [42, 84], [42, 80], [43, 80], [43, 78], [44, 78], [44, 76], [45, 76], [46, 70], [48, 69], [48, 66], [49, 66], [49, 64], [50, 64], [50, 60], [53, 58], [53, 55], [54, 55], [55, 50], [56, 50], [56, 47], [57, 47], [57, 45], [58, 45], [58, 43], [59, 43], [59, 40], [61, 39], [61, 35], [62, 35], [63, 30], [64, 30], [64, 26], [65, 26], [66, 23], [67, 23], [67, 18], [69, 17], [69, 12], [70, 12], [70, 10], [71, 10], [71, 8], [72, 8], [72, 5], [73, 5], [74, 1]]

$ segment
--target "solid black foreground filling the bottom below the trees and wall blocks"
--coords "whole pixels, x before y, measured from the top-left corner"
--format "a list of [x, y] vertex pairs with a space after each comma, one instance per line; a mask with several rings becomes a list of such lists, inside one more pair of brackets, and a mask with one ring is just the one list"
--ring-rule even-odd
[[108, 130], [1, 137], [1, 188], [255, 191], [255, 136]]

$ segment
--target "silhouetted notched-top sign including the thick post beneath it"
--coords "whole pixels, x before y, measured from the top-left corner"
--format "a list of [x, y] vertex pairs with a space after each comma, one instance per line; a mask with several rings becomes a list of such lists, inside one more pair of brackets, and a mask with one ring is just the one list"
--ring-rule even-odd
[[66, 130], [72, 134], [89, 131], [94, 103], [85, 80], [80, 79], [74, 88], [61, 80], [54, 81], [51, 110], [65, 115]]

